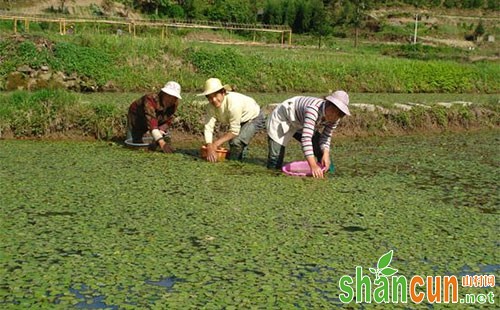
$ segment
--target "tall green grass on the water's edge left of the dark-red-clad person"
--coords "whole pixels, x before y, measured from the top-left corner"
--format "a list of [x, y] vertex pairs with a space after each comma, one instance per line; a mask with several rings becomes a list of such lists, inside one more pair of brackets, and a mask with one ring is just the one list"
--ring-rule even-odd
[[63, 90], [16, 91], [0, 97], [0, 136], [43, 137], [72, 131], [109, 140], [125, 132], [125, 115], [114, 104], [82, 103]]

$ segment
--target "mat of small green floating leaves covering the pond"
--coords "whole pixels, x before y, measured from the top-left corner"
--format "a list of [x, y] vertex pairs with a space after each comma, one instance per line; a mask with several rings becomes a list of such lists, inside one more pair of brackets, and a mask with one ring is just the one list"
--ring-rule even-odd
[[259, 143], [211, 164], [199, 144], [2, 140], [0, 308], [332, 308], [390, 250], [407, 277], [498, 279], [498, 131], [333, 144], [317, 180], [267, 170]]

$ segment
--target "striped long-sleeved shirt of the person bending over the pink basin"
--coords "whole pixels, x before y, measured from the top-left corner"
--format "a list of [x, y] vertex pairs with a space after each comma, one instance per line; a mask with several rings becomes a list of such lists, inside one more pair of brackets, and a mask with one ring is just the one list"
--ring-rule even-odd
[[297, 96], [292, 98], [295, 104], [295, 117], [303, 124], [302, 129], [302, 151], [306, 157], [314, 156], [312, 137], [317, 126], [324, 125], [323, 132], [319, 139], [322, 150], [330, 149], [332, 132], [337, 127], [335, 123], [321, 122], [324, 116], [325, 100], [315, 97]]

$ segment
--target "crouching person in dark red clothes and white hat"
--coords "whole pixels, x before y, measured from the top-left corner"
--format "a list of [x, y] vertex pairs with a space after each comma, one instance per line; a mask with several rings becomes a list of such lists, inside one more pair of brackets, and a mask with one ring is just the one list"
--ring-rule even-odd
[[173, 148], [165, 140], [167, 130], [172, 124], [181, 97], [181, 86], [170, 81], [156, 94], [146, 94], [132, 102], [128, 109], [127, 138], [133, 143], [143, 143], [143, 136], [150, 132], [153, 146], [159, 146], [165, 153]]

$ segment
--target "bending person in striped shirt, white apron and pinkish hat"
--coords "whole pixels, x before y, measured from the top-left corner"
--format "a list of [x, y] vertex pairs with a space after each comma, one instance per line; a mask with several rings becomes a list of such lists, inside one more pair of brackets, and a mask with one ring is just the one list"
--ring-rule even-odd
[[[295, 138], [302, 144], [302, 151], [313, 177], [322, 178], [323, 167], [330, 166], [330, 140], [340, 119], [349, 112], [349, 95], [338, 90], [325, 98], [297, 96], [278, 105], [267, 120], [267, 167], [281, 169], [285, 147]], [[315, 128], [323, 126], [320, 133]]]

